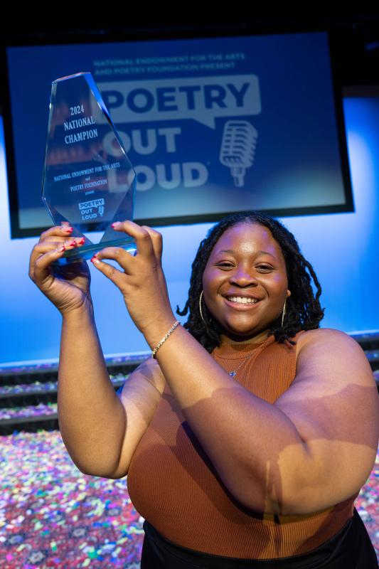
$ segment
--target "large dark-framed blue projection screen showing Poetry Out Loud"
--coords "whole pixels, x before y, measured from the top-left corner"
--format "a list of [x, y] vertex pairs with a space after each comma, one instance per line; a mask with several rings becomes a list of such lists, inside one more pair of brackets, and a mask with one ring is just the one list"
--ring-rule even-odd
[[41, 200], [51, 83], [82, 71], [92, 73], [136, 171], [137, 222], [353, 211], [324, 32], [9, 46], [6, 65], [14, 238], [52, 225]]

